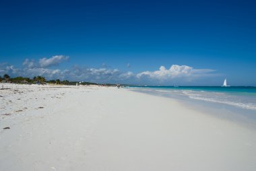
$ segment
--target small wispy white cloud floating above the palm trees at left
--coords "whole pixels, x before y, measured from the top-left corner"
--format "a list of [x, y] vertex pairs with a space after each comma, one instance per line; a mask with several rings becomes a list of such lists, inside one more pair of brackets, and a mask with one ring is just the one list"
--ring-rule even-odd
[[56, 55], [49, 59], [42, 58], [39, 59], [39, 65], [40, 67], [51, 67], [55, 65], [59, 65], [59, 63], [62, 63], [63, 61], [67, 61], [69, 57], [63, 56], [63, 55]]

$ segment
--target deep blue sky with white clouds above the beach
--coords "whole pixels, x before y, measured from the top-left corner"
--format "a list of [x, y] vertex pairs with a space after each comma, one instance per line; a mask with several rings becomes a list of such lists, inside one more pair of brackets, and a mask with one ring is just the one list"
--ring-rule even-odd
[[255, 1], [1, 1], [0, 75], [256, 86], [255, 9]]

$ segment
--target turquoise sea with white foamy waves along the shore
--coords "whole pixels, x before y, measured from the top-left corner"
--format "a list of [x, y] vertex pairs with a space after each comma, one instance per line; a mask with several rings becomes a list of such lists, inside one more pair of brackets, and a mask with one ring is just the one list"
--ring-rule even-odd
[[256, 87], [173, 87], [173, 86], [127, 86], [131, 90], [179, 98], [197, 100], [243, 108], [255, 112]]

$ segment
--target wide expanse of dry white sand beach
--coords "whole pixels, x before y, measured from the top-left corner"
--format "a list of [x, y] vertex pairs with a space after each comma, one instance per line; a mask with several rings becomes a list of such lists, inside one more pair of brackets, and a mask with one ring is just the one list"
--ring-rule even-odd
[[171, 98], [97, 86], [0, 88], [1, 171], [256, 170], [255, 129]]

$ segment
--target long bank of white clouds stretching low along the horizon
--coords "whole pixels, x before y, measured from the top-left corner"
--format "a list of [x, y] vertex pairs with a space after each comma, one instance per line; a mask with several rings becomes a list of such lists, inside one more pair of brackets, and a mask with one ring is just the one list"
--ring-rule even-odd
[[[96, 83], [129, 83], [148, 85], [172, 85], [174, 83], [193, 83], [197, 79], [216, 76], [213, 69], [194, 69], [187, 65], [171, 65], [169, 69], [164, 66], [156, 71], [120, 71], [109, 67], [88, 68], [74, 65], [69, 69], [56, 69], [58, 65], [67, 61], [69, 57], [56, 55], [51, 58], [42, 58], [38, 61], [25, 59], [23, 67], [17, 68], [8, 63], [0, 63], [0, 75], [5, 73], [11, 76], [34, 77], [42, 75], [46, 79], [68, 79], [70, 81], [92, 81]], [[130, 64], [129, 64], [130, 66]], [[55, 67], [55, 68], [53, 68]], [[128, 67], [128, 65], [127, 65]]]

